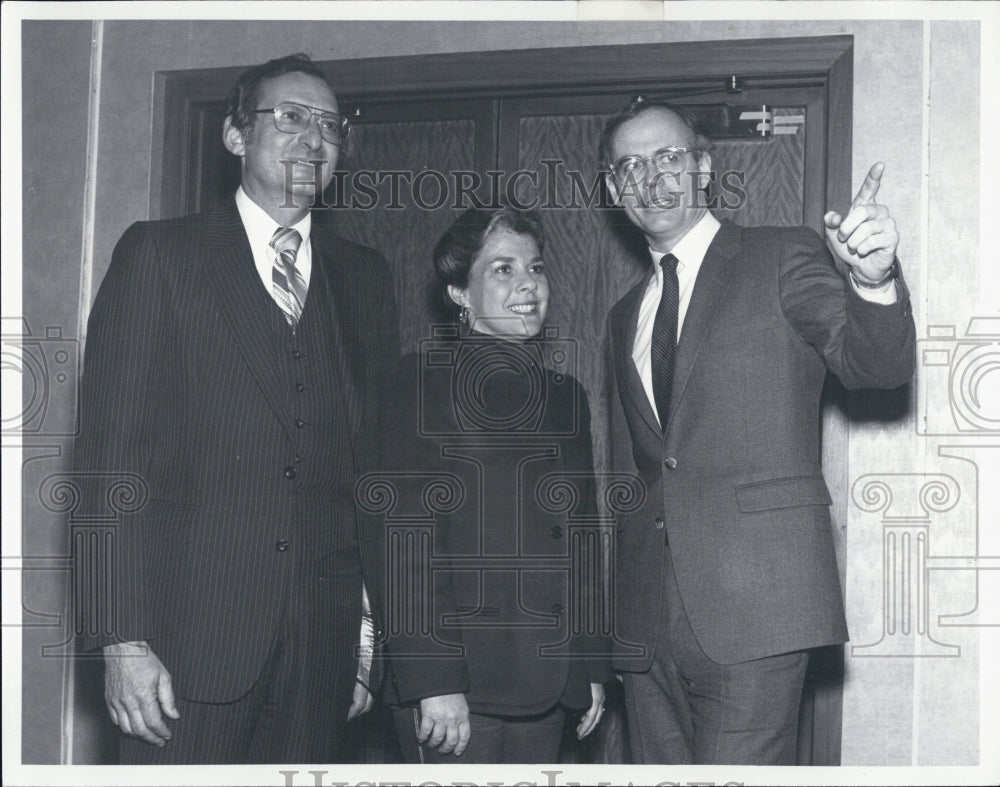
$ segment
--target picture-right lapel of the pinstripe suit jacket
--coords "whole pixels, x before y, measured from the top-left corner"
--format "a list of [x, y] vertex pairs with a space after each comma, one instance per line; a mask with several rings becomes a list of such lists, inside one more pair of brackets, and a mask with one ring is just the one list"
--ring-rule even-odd
[[311, 233], [313, 244], [313, 273], [322, 271], [327, 286], [331, 314], [331, 351], [333, 363], [347, 409], [347, 422], [351, 440], [355, 441], [361, 429], [361, 415], [364, 409], [364, 337], [360, 318], [355, 314], [356, 304], [352, 295], [357, 295], [357, 287], [351, 282], [351, 262], [336, 236], [332, 236], [313, 223]]

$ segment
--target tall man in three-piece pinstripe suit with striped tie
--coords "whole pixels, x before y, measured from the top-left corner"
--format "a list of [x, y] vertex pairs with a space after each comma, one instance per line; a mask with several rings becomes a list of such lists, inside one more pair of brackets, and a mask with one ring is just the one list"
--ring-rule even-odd
[[235, 198], [134, 224], [94, 303], [77, 468], [148, 494], [111, 576], [83, 582], [112, 587], [81, 645], [104, 649], [122, 762], [336, 761], [370, 707], [381, 546], [353, 486], [396, 315], [385, 260], [308, 209], [348, 131], [308, 58], [245, 73], [223, 130]]

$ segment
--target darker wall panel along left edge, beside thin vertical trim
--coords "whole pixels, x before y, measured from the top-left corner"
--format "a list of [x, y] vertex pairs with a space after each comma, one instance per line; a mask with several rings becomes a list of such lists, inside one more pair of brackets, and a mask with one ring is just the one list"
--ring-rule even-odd
[[[74, 431], [75, 374], [57, 377], [62, 365], [56, 361], [64, 350], [70, 363], [77, 358], [91, 27], [89, 22], [25, 22], [22, 29], [22, 46], [30, 55], [22, 71], [22, 313], [33, 337], [43, 338], [26, 354], [46, 363], [36, 371], [49, 372], [37, 378], [25, 374], [23, 386], [25, 412], [36, 414], [30, 424], [26, 418], [22, 440], [21, 554], [33, 565], [58, 565], [68, 554], [65, 516], [46, 508], [38, 491], [42, 479], [69, 469], [72, 450], [68, 434]], [[53, 329], [61, 337], [45, 339]], [[5, 373], [6, 364], [5, 354]], [[40, 398], [46, 394], [47, 399]], [[29, 624], [22, 629], [25, 762], [58, 762], [62, 750], [61, 697], [70, 662], [65, 650], [45, 650], [43, 656], [43, 648], [58, 646], [65, 636], [51, 618], [34, 613], [64, 612], [67, 579], [59, 569], [23, 574], [24, 620]]]

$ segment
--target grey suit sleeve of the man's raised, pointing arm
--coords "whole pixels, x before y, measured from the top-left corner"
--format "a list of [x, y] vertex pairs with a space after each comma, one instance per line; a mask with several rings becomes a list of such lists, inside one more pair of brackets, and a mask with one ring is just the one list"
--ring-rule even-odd
[[854, 291], [811, 230], [790, 232], [779, 253], [785, 318], [847, 388], [896, 388], [909, 382], [916, 331], [902, 279], [896, 303], [872, 303]]

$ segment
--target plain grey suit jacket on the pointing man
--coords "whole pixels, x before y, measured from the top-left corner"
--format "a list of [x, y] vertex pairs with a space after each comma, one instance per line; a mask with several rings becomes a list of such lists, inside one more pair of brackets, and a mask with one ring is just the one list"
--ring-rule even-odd
[[698, 272], [677, 345], [665, 432], [632, 360], [646, 282], [609, 317], [616, 469], [644, 503], [619, 521], [616, 667], [647, 669], [669, 552], [684, 611], [721, 664], [847, 639], [820, 470], [826, 371], [848, 388], [913, 375], [909, 292], [859, 297], [804, 228], [724, 221]]

